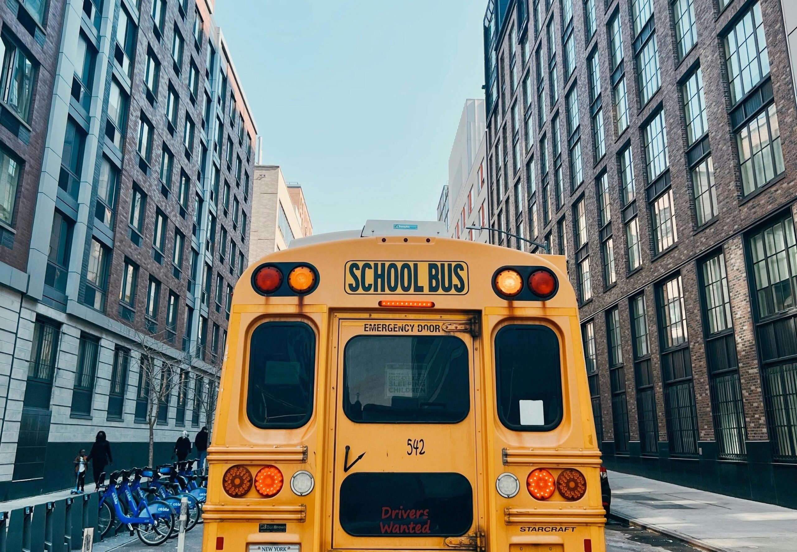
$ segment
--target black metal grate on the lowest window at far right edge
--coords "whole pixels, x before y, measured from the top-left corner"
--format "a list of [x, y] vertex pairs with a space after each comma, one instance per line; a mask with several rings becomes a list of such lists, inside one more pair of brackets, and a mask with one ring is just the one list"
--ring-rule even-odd
[[797, 363], [764, 369], [772, 457], [797, 460]]

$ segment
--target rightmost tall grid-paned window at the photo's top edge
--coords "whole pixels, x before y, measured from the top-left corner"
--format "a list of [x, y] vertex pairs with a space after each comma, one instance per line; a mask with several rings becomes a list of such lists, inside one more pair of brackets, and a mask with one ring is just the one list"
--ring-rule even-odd
[[756, 2], [724, 39], [731, 102], [740, 101], [769, 74], [761, 6]]

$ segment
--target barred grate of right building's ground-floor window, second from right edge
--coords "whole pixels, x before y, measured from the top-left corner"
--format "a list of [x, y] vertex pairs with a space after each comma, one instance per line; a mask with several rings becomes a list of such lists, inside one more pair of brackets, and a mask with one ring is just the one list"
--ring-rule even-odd
[[723, 459], [741, 459], [747, 454], [744, 445], [744, 411], [739, 373], [722, 373], [712, 377], [711, 412], [719, 456]]

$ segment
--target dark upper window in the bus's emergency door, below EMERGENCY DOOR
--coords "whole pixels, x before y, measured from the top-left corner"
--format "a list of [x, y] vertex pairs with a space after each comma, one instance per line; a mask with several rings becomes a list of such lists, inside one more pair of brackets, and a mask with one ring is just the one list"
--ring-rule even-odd
[[468, 348], [458, 337], [352, 337], [344, 412], [363, 423], [455, 424], [470, 409], [468, 373]]

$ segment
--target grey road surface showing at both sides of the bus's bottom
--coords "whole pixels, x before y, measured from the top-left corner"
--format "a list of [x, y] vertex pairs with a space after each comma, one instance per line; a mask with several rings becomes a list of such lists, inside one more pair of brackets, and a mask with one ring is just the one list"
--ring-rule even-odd
[[[636, 529], [634, 527], [621, 526], [618, 523], [610, 522], [606, 530], [606, 550], [607, 552], [696, 552], [697, 549], [686, 546], [681, 542], [673, 541], [670, 538], [650, 533], [650, 531]], [[194, 530], [186, 534], [186, 550], [198, 552], [202, 549], [202, 526], [198, 525]], [[127, 534], [119, 535], [116, 538], [101, 542], [94, 547], [94, 552], [175, 552], [177, 550], [177, 539], [166, 542], [157, 547], [145, 546], [138, 538], [131, 541]]]

